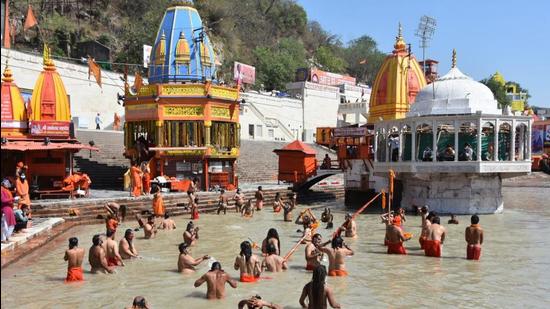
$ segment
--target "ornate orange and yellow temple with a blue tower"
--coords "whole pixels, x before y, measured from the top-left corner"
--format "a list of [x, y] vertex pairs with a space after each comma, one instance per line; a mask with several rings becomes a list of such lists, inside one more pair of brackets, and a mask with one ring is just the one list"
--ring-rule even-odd
[[[197, 178], [203, 190], [237, 185], [239, 93], [217, 85], [216, 57], [195, 8], [166, 10], [149, 63], [149, 84], [126, 88], [125, 156], [153, 177]], [[174, 186], [185, 190], [185, 185]]]

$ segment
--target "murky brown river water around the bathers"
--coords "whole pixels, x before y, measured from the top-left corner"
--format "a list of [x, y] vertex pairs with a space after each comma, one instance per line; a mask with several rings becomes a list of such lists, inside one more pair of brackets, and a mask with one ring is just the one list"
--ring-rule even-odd
[[[406, 243], [407, 256], [387, 255], [382, 245], [384, 226], [377, 215], [358, 218], [359, 237], [348, 240], [356, 254], [347, 259], [350, 276], [328, 278], [336, 299], [344, 308], [366, 307], [451, 307], [462, 308], [548, 308], [550, 304], [550, 188], [503, 188], [505, 211], [481, 216], [485, 241], [480, 261], [465, 259], [464, 229], [469, 217], [460, 216], [459, 225], [446, 225], [447, 241], [442, 258], [424, 257], [419, 250], [420, 217], [409, 216], [405, 230], [414, 234]], [[343, 206], [337, 208], [335, 225], [343, 221]], [[302, 206], [303, 207], [303, 206]], [[316, 210], [320, 213], [320, 210]], [[442, 218], [446, 223], [448, 217]], [[58, 237], [33, 254], [2, 270], [2, 308], [124, 308], [136, 295], [144, 296], [153, 308], [236, 308], [240, 299], [260, 294], [264, 299], [299, 308], [298, 299], [311, 274], [303, 267], [304, 248], [298, 249], [285, 273], [258, 283], [227, 286], [227, 298], [207, 301], [206, 287], [194, 288], [193, 282], [207, 271], [207, 263], [195, 275], [176, 272], [178, 249], [187, 218], [177, 217], [178, 229], [161, 231], [154, 240], [141, 239], [135, 244], [144, 257], [117, 268], [113, 275], [88, 273], [85, 282], [64, 284], [66, 263], [63, 252], [67, 239], [77, 236], [86, 254], [93, 234], [103, 225], [80, 226]], [[198, 245], [192, 255], [209, 254], [222, 263], [233, 277], [239, 244], [249, 237], [261, 242], [270, 227], [279, 231], [281, 251], [287, 252], [299, 239], [299, 228], [285, 223], [270, 210], [243, 220], [235, 213], [226, 216], [202, 214]], [[122, 224], [120, 238], [134, 222]], [[332, 230], [319, 230], [329, 237]]]

